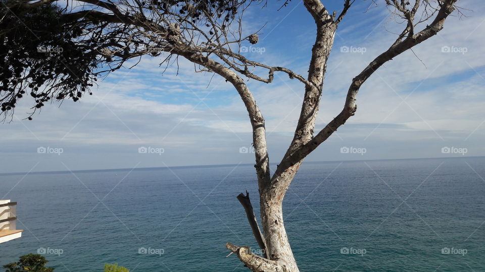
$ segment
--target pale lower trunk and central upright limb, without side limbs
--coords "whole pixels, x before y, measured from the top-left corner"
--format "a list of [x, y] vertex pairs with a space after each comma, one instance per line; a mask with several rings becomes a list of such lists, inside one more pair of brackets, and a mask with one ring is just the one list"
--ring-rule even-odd
[[331, 23], [324, 22], [329, 15], [319, 1], [305, 1], [305, 6], [315, 15], [317, 26], [307, 79], [310, 84], [305, 86], [305, 97], [294, 139], [269, 184], [259, 188], [261, 220], [269, 250], [268, 256], [271, 260], [282, 263], [287, 271], [299, 271], [299, 269], [284, 228], [282, 203], [303, 159], [290, 162], [287, 167], [284, 162], [313, 137], [327, 60], [336, 30], [333, 20]]

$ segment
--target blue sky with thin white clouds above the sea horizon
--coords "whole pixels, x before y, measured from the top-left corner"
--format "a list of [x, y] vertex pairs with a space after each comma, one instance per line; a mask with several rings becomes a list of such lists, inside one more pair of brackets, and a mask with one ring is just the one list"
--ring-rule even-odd
[[[343, 1], [322, 1], [340, 11]], [[341, 110], [352, 78], [385, 51], [404, 27], [384, 1], [357, 0], [336, 32], [315, 131]], [[315, 40], [301, 1], [254, 5], [243, 32], [264, 25], [245, 55], [304, 75]], [[357, 97], [358, 110], [307, 161], [485, 156], [485, 2], [460, 0], [437, 36], [385, 63]], [[370, 9], [368, 9], [371, 7]], [[143, 57], [110, 74], [93, 95], [46, 105], [32, 121], [20, 104], [0, 124], [0, 173], [254, 163], [243, 102], [221, 77]], [[126, 65], [127, 67], [131, 65]], [[286, 74], [248, 80], [266, 120], [271, 163], [293, 138], [304, 86]], [[30, 102], [30, 101], [28, 101]]]

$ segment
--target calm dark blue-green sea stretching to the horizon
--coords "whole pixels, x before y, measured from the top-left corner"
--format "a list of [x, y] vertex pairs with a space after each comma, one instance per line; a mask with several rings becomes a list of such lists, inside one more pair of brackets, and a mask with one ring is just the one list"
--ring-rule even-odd
[[[284, 202], [300, 270], [485, 271], [480, 176], [485, 158], [305, 163]], [[252, 165], [3, 175], [25, 231], [0, 264], [45, 248], [56, 271], [246, 271], [224, 247], [257, 248], [245, 190], [258, 212]]]

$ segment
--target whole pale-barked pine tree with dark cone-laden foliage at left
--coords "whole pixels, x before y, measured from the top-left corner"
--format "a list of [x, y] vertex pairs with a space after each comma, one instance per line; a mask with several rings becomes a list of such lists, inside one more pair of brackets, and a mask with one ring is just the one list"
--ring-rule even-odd
[[[142, 55], [162, 55], [162, 63], [167, 65], [171, 58], [183, 57], [196, 64], [196, 72], [207, 71], [223, 77], [240, 95], [252, 125], [262, 232], [249, 194], [240, 194], [237, 198], [243, 204], [255, 238], [265, 253], [259, 256], [247, 246], [231, 243], [226, 247], [253, 271], [299, 271], [282, 214], [284, 195], [298, 168], [308, 154], [355, 114], [357, 93], [365, 81], [387, 61], [441, 31], [445, 20], [455, 11], [458, 0], [384, 0], [390, 12], [403, 20], [403, 30], [387, 50], [376, 56], [350, 82], [342, 111], [316, 133], [315, 119], [327, 60], [337, 27], [354, 1], [343, 0], [340, 12], [329, 13], [320, 0], [303, 0], [316, 28], [308, 75], [305, 76], [286, 67], [250, 60], [241, 54], [241, 44], [257, 43], [260, 34], [258, 31], [242, 36], [241, 18], [249, 5], [260, 1], [78, 1], [83, 6], [74, 9], [60, 4], [55, 6], [54, 0], [3, 2], [0, 15], [3, 18], [0, 103], [4, 116], [13, 114], [16, 103], [27, 91], [35, 98], [29, 119], [50, 99], [77, 101], [85, 92], [90, 92], [89, 87], [96, 78], [112, 73], [125, 61]], [[282, 6], [288, 4], [289, 0]], [[50, 31], [44, 33], [45, 29]], [[26, 32], [30, 32], [28, 38], [22, 37]], [[64, 50], [56, 51], [56, 48]], [[267, 74], [262, 76], [262, 72], [256, 71], [266, 71]], [[271, 174], [265, 120], [244, 78], [271, 83], [276, 72], [301, 82], [305, 94], [294, 138]]]

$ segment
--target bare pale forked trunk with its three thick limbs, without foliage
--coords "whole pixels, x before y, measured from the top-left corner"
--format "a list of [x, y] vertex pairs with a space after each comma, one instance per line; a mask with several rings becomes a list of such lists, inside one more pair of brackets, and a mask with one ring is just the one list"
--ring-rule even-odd
[[[313, 16], [316, 23], [316, 40], [312, 48], [308, 78], [305, 82], [305, 96], [295, 135], [271, 178], [269, 178], [269, 157], [266, 148], [264, 119], [256, 105], [254, 97], [246, 84], [235, 73], [214, 61], [211, 62], [209, 60], [208, 62], [210, 69], [225, 77], [239, 92], [248, 109], [253, 126], [253, 144], [255, 146], [255, 167], [258, 175], [260, 193], [261, 223], [264, 230], [263, 239], [266, 242], [265, 244], [259, 242], [259, 244], [266, 248], [266, 258], [253, 254], [249, 247], [239, 247], [230, 243], [226, 244], [226, 247], [232, 253], [237, 253], [239, 259], [252, 271], [299, 272], [284, 228], [282, 203], [284, 195], [290, 183], [293, 181], [298, 168], [302, 164], [303, 159], [336, 131], [338, 127], [343, 125], [348, 118], [354, 115], [357, 109], [357, 105], [355, 104], [356, 95], [360, 86], [383, 63], [438, 33], [443, 28], [446, 17], [454, 10], [453, 5], [457, 0], [446, 0], [440, 7], [433, 22], [416, 34], [413, 33], [412, 22], [414, 20], [414, 14], [419, 7], [419, 2], [416, 2], [414, 8], [409, 11], [405, 10], [405, 7], [399, 6], [410, 22], [407, 28], [388, 50], [377, 56], [352, 80], [344, 109], [314, 137], [315, 119], [318, 112], [319, 100], [322, 95], [328, 56], [333, 45], [337, 25], [350, 7], [350, 1], [345, 1], [344, 11], [340, 16], [336, 17], [335, 14], [328, 14], [320, 0], [303, 0], [306, 9]], [[393, 3], [399, 5], [397, 1]], [[198, 57], [194, 58], [192, 56], [192, 59], [197, 62]], [[247, 213], [248, 210], [252, 211], [252, 209], [246, 210]], [[257, 222], [255, 222], [254, 214], [248, 214], [248, 219], [250, 220], [256, 240], [261, 240], [261, 233], [257, 227]]]

